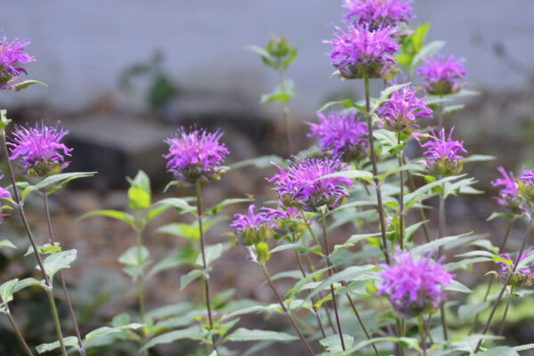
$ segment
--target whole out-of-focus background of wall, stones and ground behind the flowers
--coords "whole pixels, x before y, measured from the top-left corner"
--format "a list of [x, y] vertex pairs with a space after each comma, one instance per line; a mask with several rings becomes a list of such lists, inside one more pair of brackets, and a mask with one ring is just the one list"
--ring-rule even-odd
[[[471, 154], [498, 156], [497, 161], [465, 166], [465, 172], [479, 179], [477, 188], [487, 193], [451, 201], [449, 222], [454, 223], [448, 232], [489, 233], [496, 243], [502, 239], [506, 226], [485, 221], [498, 208], [491, 199], [494, 190], [490, 186], [498, 175], [496, 167], [517, 169], [534, 163], [534, 2], [419, 0], [413, 7], [417, 17], [410, 23], [412, 28], [431, 22], [428, 41], [443, 40], [444, 53], [465, 58], [468, 87], [479, 92], [465, 99], [465, 109], [449, 117], [446, 125], [457, 126], [457, 137], [465, 141]], [[339, 1], [53, 0], [44, 5], [31, 0], [4, 2], [0, 11], [4, 15], [0, 33], [8, 40], [19, 37], [32, 41], [26, 49], [36, 62], [26, 66], [28, 78], [48, 85], [2, 93], [0, 108], [8, 109], [19, 124], [61, 120], [71, 131], [69, 145], [75, 148], [70, 169], [99, 171], [93, 179], [72, 184], [76, 190], [53, 197], [58, 239], [64, 248], [80, 251], [66, 278], [75, 289], [73, 293], [77, 293], [75, 303], [86, 330], [109, 322], [125, 308], [135, 309], [134, 290], [129, 289], [134, 286], [117, 263], [117, 256], [134, 245], [134, 234], [106, 219], [73, 219], [100, 208], [125, 209], [125, 175], [133, 176], [138, 169], [145, 170], [152, 179], [153, 190], [163, 194], [163, 186], [171, 176], [166, 174], [164, 158], [160, 158], [166, 151], [162, 141], [179, 125], [222, 127], [223, 141], [231, 150], [228, 163], [268, 154], [286, 156], [279, 105], [260, 103], [261, 95], [270, 93], [279, 78], [263, 66], [256, 53], [247, 51], [247, 45], [263, 47], [271, 34], [283, 34], [298, 44], [296, 60], [287, 70], [287, 77], [296, 86], [289, 109], [291, 131], [299, 150], [312, 144], [305, 137], [304, 122], [316, 120], [315, 111], [326, 101], [362, 97], [360, 81], [330, 77], [333, 68], [325, 54], [330, 48], [321, 42], [332, 36], [334, 26], [342, 24], [344, 11]], [[419, 83], [417, 77], [414, 81]], [[375, 83], [375, 93], [379, 87], [380, 83]], [[222, 182], [206, 187], [206, 206], [249, 193], [261, 199], [273, 198], [264, 181], [271, 174], [270, 170], [249, 169], [224, 176]], [[188, 193], [173, 191], [172, 195]], [[44, 239], [38, 199], [29, 208], [35, 211], [32, 218], [36, 231]], [[242, 211], [243, 206], [234, 209], [229, 214]], [[164, 214], [156, 225], [175, 219], [175, 214]], [[224, 241], [221, 234], [228, 230], [227, 224], [221, 224], [211, 232], [211, 239]], [[521, 230], [518, 225], [513, 236], [519, 239]], [[344, 231], [340, 240], [350, 233]], [[20, 234], [20, 226], [4, 225], [0, 239]], [[150, 231], [145, 238], [156, 261], [181, 244], [174, 237], [152, 236]], [[25, 239], [17, 241], [19, 247], [24, 247]], [[15, 252], [1, 253], [2, 280], [30, 273], [31, 261]], [[20, 263], [26, 263], [26, 269], [21, 269]], [[212, 276], [215, 292], [231, 287], [235, 288], [236, 298], [271, 301], [270, 290], [258, 287], [262, 283], [261, 271], [249, 271], [254, 269], [248, 268], [242, 251], [233, 249], [218, 263], [222, 268]], [[236, 269], [243, 266], [248, 266], [247, 275], [236, 277]], [[286, 268], [283, 263], [277, 267], [279, 271]], [[161, 274], [152, 285], [157, 284], [158, 288], [153, 287], [150, 292], [149, 305], [193, 298], [195, 291], [177, 292], [183, 271], [187, 269]], [[282, 280], [280, 289], [284, 287], [289, 284], [284, 286]], [[38, 295], [38, 291], [35, 293]], [[29, 300], [44, 300], [29, 292], [21, 299], [21, 305], [27, 305]], [[48, 318], [43, 315], [45, 310], [44, 304], [33, 303], [29, 312], [19, 312], [31, 344], [36, 340], [50, 341], [41, 336], [53, 335], [52, 325], [44, 322]], [[522, 319], [533, 318], [533, 311], [530, 308]], [[68, 325], [66, 312], [64, 316]], [[43, 321], [40, 325], [45, 330], [29, 328], [29, 323], [36, 325], [36, 320]], [[255, 328], [266, 328], [265, 323], [269, 322], [284, 323], [277, 318], [265, 321], [259, 316], [247, 322]], [[0, 319], [0, 326], [6, 325]], [[0, 333], [0, 354], [16, 354], [9, 353], [16, 345], [7, 330]], [[521, 328], [514, 326], [509, 333], [521, 339], [518, 330]], [[4, 335], [12, 337], [11, 346], [4, 341]], [[119, 350], [107, 354], [134, 353]]]

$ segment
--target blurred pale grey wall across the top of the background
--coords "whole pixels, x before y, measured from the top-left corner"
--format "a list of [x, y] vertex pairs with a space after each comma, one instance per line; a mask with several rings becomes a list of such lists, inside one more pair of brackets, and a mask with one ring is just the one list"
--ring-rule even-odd
[[[340, 1], [327, 0], [25, 0], [0, 4], [0, 33], [28, 38], [34, 87], [2, 95], [0, 102], [46, 101], [64, 109], [82, 109], [104, 94], [119, 105], [141, 108], [138, 97], [117, 93], [117, 75], [154, 51], [166, 53], [166, 69], [182, 87], [242, 93], [256, 101], [276, 85], [247, 44], [264, 44], [271, 31], [303, 40], [287, 74], [298, 95], [292, 106], [307, 115], [333, 91], [358, 82], [329, 78], [324, 54], [333, 25], [340, 24]], [[482, 88], [526, 86], [534, 72], [534, 1], [417, 0], [414, 24], [432, 22], [430, 37], [447, 41], [446, 50], [465, 57], [469, 79]], [[494, 53], [504, 46], [511, 58]]]

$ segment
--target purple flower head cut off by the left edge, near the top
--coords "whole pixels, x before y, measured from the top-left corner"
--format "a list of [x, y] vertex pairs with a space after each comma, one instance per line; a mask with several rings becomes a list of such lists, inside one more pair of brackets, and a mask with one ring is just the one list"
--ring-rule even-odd
[[0, 90], [15, 89], [15, 81], [22, 73], [28, 74], [26, 69], [21, 67], [29, 61], [35, 59], [28, 53], [24, 52], [24, 47], [29, 44], [29, 41], [20, 41], [15, 38], [12, 43], [7, 41], [7, 37], [0, 41]]

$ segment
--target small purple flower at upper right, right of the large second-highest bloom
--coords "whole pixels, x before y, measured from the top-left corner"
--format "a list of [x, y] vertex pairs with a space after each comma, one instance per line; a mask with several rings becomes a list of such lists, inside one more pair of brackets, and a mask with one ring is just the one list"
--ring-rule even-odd
[[458, 80], [467, 77], [464, 70], [464, 59], [455, 60], [453, 54], [446, 57], [441, 53], [423, 59], [425, 66], [417, 69], [417, 74], [425, 77], [428, 93], [446, 95], [457, 93], [465, 84]]

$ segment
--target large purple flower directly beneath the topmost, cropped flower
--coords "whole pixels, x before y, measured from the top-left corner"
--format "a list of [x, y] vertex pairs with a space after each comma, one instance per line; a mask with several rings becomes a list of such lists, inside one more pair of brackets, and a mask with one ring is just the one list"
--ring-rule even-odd
[[370, 30], [368, 25], [349, 25], [347, 32], [336, 29], [335, 38], [323, 43], [334, 46], [328, 56], [342, 77], [378, 78], [391, 72], [392, 55], [399, 49], [391, 38], [394, 28]]

